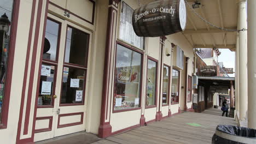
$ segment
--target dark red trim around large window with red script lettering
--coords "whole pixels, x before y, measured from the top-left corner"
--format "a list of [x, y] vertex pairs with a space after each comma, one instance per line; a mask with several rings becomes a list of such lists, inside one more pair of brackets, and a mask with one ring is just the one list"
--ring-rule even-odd
[[[126, 47], [127, 49], [130, 49], [130, 50], [132, 50], [132, 51], [135, 51], [135, 52], [138, 52], [138, 53], [140, 53], [141, 54], [141, 77], [140, 77], [140, 87], [139, 87], [139, 107], [135, 107], [135, 108], [131, 108], [131, 109], [123, 109], [123, 110], [114, 110], [114, 95], [113, 95], [113, 110], [112, 110], [112, 113], [118, 113], [118, 112], [125, 112], [125, 111], [134, 111], [134, 110], [139, 110], [139, 109], [141, 109], [141, 105], [142, 105], [142, 103], [141, 103], [141, 101], [142, 101], [142, 81], [143, 81], [143, 57], [144, 57], [144, 52], [142, 52], [142, 51], [139, 51], [139, 50], [137, 50], [137, 49], [135, 49], [134, 47], [132, 47], [132, 46], [130, 46], [130, 45], [127, 45], [127, 44], [125, 44], [123, 41], [119, 41], [119, 40], [117, 40], [116, 41], [116, 49], [115, 49], [115, 65], [114, 65], [114, 68], [117, 66], [117, 46], [118, 45], [121, 45], [121, 46], [124, 46], [124, 47]], [[114, 72], [114, 75], [116, 75], [117, 73], [116, 73], [116, 71]], [[114, 76], [114, 79], [115, 79], [115, 76]], [[113, 93], [115, 92], [115, 81], [114, 81], [114, 91], [113, 91]]]

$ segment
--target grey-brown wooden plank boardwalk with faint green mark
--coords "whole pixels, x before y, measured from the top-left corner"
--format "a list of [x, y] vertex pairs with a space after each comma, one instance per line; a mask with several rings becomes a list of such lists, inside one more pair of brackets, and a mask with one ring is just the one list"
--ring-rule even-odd
[[[210, 110], [211, 111], [211, 110]], [[216, 110], [213, 110], [217, 114]], [[206, 111], [207, 113], [207, 111]], [[116, 143], [211, 143], [218, 124], [235, 125], [233, 118], [209, 115], [206, 113], [185, 112], [146, 127], [139, 127], [125, 133], [110, 136], [94, 144]], [[211, 112], [209, 112], [211, 113]], [[221, 113], [221, 111], [220, 111]]]

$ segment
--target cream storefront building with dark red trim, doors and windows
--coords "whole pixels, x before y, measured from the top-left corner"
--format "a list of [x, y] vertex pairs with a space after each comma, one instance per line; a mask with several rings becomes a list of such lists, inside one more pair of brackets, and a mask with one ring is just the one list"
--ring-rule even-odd
[[193, 46], [182, 33], [137, 37], [137, 1], [8, 4], [0, 29], [1, 142], [84, 130], [107, 137], [192, 110]]

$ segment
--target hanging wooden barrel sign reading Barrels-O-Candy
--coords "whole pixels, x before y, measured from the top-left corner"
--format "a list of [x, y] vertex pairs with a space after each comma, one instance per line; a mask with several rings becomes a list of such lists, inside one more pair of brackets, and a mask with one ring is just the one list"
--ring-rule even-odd
[[187, 11], [184, 0], [162, 0], [136, 9], [132, 26], [139, 37], [160, 37], [184, 31]]

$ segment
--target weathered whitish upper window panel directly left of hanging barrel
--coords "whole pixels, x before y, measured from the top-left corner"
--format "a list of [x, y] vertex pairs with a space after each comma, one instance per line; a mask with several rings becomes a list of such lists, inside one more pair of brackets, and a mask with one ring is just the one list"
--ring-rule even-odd
[[119, 38], [144, 50], [144, 38], [138, 37], [132, 27], [132, 14], [134, 10], [125, 2], [122, 2], [121, 9]]

